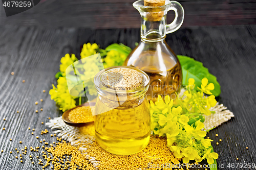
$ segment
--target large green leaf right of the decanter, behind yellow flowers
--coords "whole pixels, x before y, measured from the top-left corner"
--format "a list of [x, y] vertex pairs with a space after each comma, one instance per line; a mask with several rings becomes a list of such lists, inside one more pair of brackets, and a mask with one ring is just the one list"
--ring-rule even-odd
[[203, 66], [203, 63], [194, 60], [193, 58], [187, 56], [179, 56], [177, 55], [181, 67], [182, 67], [182, 84], [187, 85], [188, 79], [195, 79], [196, 89], [197, 87], [201, 88], [201, 80], [203, 78], [208, 79], [208, 83], [214, 84], [214, 90], [211, 90], [212, 94], [215, 96], [219, 96], [221, 93], [221, 86], [217, 81], [217, 78], [209, 73], [208, 68]]

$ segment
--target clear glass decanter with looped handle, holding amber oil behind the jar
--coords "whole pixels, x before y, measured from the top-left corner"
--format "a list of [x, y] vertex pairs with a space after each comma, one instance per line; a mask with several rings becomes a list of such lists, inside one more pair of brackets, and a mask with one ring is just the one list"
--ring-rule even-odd
[[[165, 1], [163, 6], [144, 6], [143, 0], [133, 6], [141, 15], [141, 41], [127, 57], [124, 65], [137, 67], [150, 77], [147, 99], [156, 101], [158, 95], [176, 98], [181, 88], [182, 71], [179, 60], [165, 41], [166, 34], [178, 30], [184, 19], [183, 7], [176, 1]], [[175, 11], [175, 19], [166, 25], [169, 10]]]

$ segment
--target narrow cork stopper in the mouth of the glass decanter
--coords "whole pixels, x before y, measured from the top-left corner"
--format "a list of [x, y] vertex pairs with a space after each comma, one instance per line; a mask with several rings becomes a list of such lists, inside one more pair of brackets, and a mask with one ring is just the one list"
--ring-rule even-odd
[[[160, 7], [165, 5], [165, 0], [144, 0], [144, 6], [149, 7]], [[164, 12], [159, 9], [152, 9], [146, 14], [146, 18], [149, 21], [160, 21], [163, 17]]]

